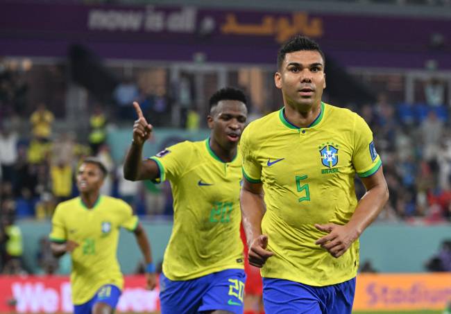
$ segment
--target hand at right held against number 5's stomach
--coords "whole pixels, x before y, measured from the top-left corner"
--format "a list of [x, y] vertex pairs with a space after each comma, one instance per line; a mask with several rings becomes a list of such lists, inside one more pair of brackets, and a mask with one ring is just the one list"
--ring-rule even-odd
[[359, 237], [355, 230], [350, 229], [346, 225], [327, 223], [325, 225], [315, 224], [315, 227], [322, 232], [327, 232], [327, 236], [319, 238], [315, 244], [321, 245], [323, 249], [335, 258], [343, 255]]

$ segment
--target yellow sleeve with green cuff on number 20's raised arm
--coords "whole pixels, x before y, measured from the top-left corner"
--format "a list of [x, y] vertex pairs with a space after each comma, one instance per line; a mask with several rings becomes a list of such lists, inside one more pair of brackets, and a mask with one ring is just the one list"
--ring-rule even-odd
[[166, 179], [173, 180], [185, 173], [187, 161], [192, 156], [192, 145], [190, 141], [177, 143], [176, 145], [165, 148], [157, 155], [150, 157], [158, 164], [160, 170], [160, 177], [155, 180], [155, 183], [164, 182]]

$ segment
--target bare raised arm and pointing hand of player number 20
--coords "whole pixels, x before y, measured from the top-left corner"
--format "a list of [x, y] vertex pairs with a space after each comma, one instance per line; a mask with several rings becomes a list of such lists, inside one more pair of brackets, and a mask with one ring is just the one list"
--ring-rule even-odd
[[133, 141], [128, 148], [124, 163], [124, 177], [126, 180], [153, 180], [158, 177], [159, 170], [156, 162], [142, 159], [142, 146], [151, 137], [152, 125], [148, 124], [141, 107], [137, 102], [133, 103], [138, 119], [133, 125]]

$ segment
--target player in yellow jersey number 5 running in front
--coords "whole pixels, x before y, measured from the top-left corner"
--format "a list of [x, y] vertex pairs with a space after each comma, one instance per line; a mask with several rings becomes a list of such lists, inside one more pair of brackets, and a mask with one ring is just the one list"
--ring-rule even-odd
[[368, 125], [321, 101], [324, 67], [316, 42], [284, 44], [274, 76], [284, 107], [241, 137], [241, 211], [266, 313], [351, 313], [358, 238], [389, 198]]

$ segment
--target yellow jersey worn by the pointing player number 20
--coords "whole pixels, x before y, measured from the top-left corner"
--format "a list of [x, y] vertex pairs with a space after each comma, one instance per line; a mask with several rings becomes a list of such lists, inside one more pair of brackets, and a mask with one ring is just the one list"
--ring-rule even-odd
[[173, 194], [173, 230], [163, 272], [171, 280], [189, 280], [244, 268], [239, 236], [241, 157], [222, 162], [206, 141], [184, 141], [151, 157], [160, 169], [156, 182], [169, 180]]

